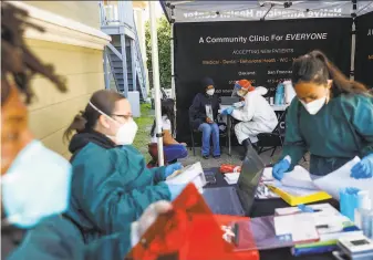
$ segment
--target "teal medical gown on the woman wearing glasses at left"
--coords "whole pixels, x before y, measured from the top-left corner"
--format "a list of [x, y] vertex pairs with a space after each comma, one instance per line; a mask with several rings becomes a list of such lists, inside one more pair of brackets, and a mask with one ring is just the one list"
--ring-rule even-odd
[[148, 169], [133, 146], [103, 148], [89, 143], [72, 162], [66, 215], [83, 229], [84, 241], [125, 230], [151, 204], [170, 200], [165, 167]]

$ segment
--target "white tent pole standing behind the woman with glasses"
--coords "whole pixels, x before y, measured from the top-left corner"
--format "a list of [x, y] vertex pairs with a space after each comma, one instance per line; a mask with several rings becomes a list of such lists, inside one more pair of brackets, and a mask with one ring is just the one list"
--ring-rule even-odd
[[155, 17], [156, 1], [148, 1], [151, 18], [151, 39], [152, 39], [152, 67], [153, 67], [153, 86], [155, 92], [155, 122], [156, 137], [158, 144], [158, 165], [164, 166], [163, 156], [163, 134], [162, 134], [162, 113], [160, 113], [160, 84], [159, 84], [159, 61], [158, 61], [158, 35]]

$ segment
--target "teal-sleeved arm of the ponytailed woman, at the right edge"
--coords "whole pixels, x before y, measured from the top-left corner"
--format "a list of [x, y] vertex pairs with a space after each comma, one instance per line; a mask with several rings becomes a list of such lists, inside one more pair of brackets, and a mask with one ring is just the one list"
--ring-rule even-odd
[[365, 157], [373, 154], [373, 97], [355, 95], [348, 104], [343, 110], [355, 129], [355, 139], [361, 142], [360, 154]]

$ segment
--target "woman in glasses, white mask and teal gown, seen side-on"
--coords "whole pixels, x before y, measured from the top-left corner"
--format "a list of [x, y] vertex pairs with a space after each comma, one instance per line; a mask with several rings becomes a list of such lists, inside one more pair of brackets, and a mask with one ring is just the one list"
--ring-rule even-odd
[[173, 200], [184, 188], [164, 183], [180, 164], [146, 167], [132, 146], [136, 133], [129, 102], [107, 90], [95, 92], [65, 132], [74, 169], [66, 216], [87, 242], [123, 231], [152, 202]]

